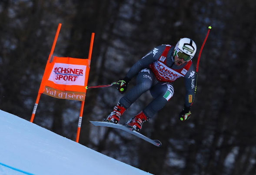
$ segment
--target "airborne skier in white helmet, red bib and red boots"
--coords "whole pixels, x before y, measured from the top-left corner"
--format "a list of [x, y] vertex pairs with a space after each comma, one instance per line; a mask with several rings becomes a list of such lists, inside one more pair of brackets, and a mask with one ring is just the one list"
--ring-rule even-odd
[[189, 38], [182, 38], [176, 46], [161, 45], [155, 47], [136, 62], [126, 76], [118, 81], [118, 91], [124, 93], [128, 83], [136, 75], [136, 86], [130, 89], [113, 108], [113, 112], [104, 119], [118, 123], [123, 112], [128, 109], [144, 92], [150, 90], [153, 101], [125, 124], [140, 132], [142, 123], [149, 120], [162, 109], [173, 96], [173, 84], [179, 77], [184, 77], [186, 95], [180, 120], [190, 118], [190, 107], [195, 96], [195, 68], [191, 59], [196, 53], [196, 43]]

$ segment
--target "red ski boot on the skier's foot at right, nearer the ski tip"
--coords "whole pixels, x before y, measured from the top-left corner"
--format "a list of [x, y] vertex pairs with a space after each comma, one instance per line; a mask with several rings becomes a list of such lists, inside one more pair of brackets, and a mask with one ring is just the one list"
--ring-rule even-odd
[[145, 114], [141, 111], [135, 117], [133, 117], [132, 119], [128, 120], [128, 122], [126, 122], [125, 125], [130, 125], [130, 126], [133, 127], [133, 129], [136, 132], [140, 132], [140, 129], [142, 127], [142, 123], [145, 122], [146, 120], [149, 120], [149, 118], [147, 118], [145, 116]]

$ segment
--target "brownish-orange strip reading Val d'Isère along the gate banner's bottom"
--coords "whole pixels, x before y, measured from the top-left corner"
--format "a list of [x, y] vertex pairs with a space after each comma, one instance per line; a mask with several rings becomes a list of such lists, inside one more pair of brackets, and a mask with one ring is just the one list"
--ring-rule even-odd
[[85, 92], [73, 92], [73, 91], [62, 91], [45, 86], [44, 94], [52, 96], [58, 99], [70, 99], [70, 100], [85, 100]]

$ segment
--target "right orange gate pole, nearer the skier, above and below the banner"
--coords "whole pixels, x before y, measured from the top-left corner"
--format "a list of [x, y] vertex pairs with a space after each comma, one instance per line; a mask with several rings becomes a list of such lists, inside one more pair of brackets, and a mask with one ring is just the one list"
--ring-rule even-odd
[[[92, 36], [91, 36], [90, 49], [89, 49], [89, 55], [88, 55], [88, 60], [89, 60], [88, 66], [89, 66], [89, 69], [90, 69], [90, 63], [91, 63], [92, 52], [93, 52], [94, 34], [95, 33], [92, 33]], [[87, 76], [89, 76], [89, 72], [88, 72]], [[77, 143], [79, 141], [79, 136], [80, 136], [82, 117], [83, 117], [83, 107], [84, 107], [84, 101], [81, 102], [80, 115], [79, 115], [79, 121], [78, 121], [77, 132], [76, 132], [76, 142]]]

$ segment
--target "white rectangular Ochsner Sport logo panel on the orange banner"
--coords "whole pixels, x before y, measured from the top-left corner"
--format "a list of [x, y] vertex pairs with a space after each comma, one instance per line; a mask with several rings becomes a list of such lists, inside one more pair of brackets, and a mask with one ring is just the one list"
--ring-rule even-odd
[[55, 63], [48, 80], [61, 85], [84, 86], [86, 66]]

